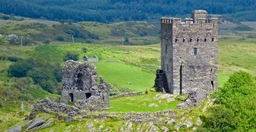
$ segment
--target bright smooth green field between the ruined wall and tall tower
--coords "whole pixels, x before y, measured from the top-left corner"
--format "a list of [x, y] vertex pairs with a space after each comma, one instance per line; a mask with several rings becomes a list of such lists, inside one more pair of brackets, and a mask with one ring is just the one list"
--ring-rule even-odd
[[155, 75], [142, 71], [141, 68], [124, 63], [98, 62], [94, 63], [99, 76], [103, 76], [107, 82], [118, 85], [121, 88], [129, 88], [133, 91], [145, 91], [154, 86]]

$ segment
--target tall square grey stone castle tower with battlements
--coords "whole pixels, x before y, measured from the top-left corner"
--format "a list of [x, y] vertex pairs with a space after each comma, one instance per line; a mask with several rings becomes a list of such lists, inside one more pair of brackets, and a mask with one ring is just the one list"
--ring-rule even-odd
[[161, 18], [161, 70], [157, 70], [158, 91], [183, 94], [218, 88], [218, 20], [205, 10], [191, 18]]

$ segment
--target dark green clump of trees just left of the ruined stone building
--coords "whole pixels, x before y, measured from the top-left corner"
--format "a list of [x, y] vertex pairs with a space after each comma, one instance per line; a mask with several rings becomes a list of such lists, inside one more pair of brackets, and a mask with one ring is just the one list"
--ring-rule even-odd
[[8, 74], [18, 78], [30, 77], [45, 91], [59, 94], [58, 84], [62, 81], [60, 67], [59, 63], [50, 64], [42, 59], [20, 59], [9, 67]]

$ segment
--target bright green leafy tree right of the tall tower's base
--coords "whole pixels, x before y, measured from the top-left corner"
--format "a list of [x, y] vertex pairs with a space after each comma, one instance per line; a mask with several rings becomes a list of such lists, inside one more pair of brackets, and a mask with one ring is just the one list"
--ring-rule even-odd
[[200, 131], [255, 131], [255, 96], [255, 78], [244, 71], [232, 74], [214, 94], [215, 105], [201, 116]]

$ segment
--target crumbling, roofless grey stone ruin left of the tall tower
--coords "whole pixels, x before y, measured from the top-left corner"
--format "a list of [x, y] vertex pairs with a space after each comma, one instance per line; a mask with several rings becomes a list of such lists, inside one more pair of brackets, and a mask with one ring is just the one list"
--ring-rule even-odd
[[100, 77], [96, 67], [89, 63], [69, 60], [62, 70], [62, 99], [65, 103], [75, 103], [79, 108], [97, 110], [109, 106], [109, 84]]

